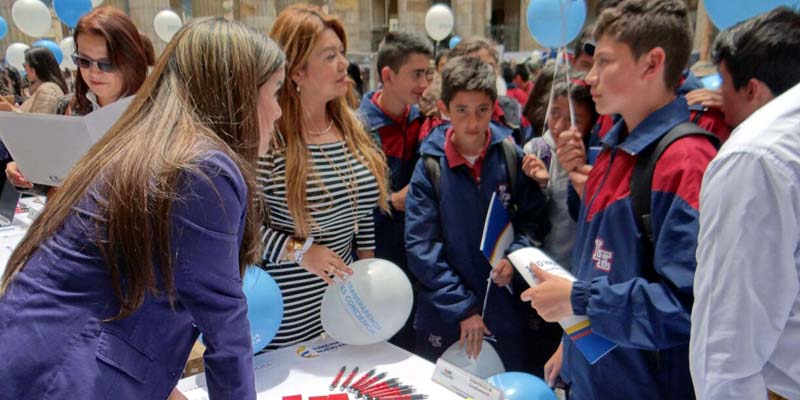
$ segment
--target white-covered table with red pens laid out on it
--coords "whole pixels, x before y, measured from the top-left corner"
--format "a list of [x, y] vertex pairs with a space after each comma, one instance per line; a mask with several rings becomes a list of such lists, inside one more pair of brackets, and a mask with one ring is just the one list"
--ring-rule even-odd
[[[316, 339], [255, 358], [256, 392], [259, 399], [280, 400], [283, 396], [323, 396], [341, 393], [328, 391], [336, 373], [343, 366], [347, 374], [358, 366], [356, 379], [372, 368], [376, 374], [386, 372], [404, 385], [412, 385], [416, 393], [432, 400], [462, 399], [431, 381], [434, 365], [392, 344], [383, 342], [369, 346], [348, 346], [331, 339]], [[208, 399], [204, 374], [190, 376], [178, 383], [178, 389], [189, 400]], [[354, 399], [354, 395], [350, 395]]]

